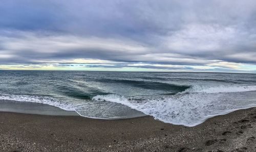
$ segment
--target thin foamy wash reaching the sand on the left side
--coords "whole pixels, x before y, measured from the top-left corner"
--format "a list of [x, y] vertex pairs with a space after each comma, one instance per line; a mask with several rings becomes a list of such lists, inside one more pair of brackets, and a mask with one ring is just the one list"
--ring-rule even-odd
[[124, 119], [145, 116], [124, 105], [106, 102], [92, 102], [92, 100], [59, 99], [46, 95], [10, 95], [0, 94], [0, 102], [18, 101], [48, 104], [66, 111], [75, 111], [78, 115], [94, 119]]

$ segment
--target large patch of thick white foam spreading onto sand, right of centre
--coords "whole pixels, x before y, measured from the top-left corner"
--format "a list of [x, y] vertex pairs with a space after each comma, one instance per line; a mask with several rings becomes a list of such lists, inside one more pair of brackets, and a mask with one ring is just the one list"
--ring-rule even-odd
[[113, 94], [98, 95], [93, 99], [124, 104], [163, 122], [186, 126], [195, 126], [216, 115], [256, 106], [255, 99], [241, 103], [238, 97], [204, 93], [178, 94], [142, 101]]

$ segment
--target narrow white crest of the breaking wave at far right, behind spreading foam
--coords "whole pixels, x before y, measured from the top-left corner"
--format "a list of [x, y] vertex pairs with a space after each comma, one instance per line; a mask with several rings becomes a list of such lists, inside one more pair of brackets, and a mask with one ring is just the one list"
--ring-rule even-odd
[[181, 93], [229, 93], [256, 91], [256, 85], [218, 85], [204, 86], [194, 85]]

